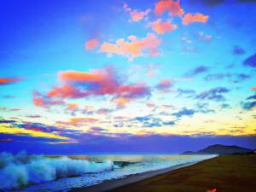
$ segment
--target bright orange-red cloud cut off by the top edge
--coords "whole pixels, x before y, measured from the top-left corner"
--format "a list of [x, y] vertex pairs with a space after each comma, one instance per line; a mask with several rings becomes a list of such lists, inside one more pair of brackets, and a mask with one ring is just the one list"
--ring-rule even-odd
[[184, 14], [183, 9], [180, 7], [179, 1], [174, 2], [172, 0], [160, 0], [155, 4], [154, 14], [163, 15], [165, 12], [168, 12], [172, 16], [182, 16]]

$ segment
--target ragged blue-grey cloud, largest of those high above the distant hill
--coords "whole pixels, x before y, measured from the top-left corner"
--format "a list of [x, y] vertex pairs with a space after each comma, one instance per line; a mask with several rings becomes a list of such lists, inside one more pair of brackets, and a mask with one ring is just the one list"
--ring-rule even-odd
[[212, 88], [211, 90], [201, 92], [201, 94], [195, 96], [195, 98], [200, 100], [212, 100], [215, 102], [221, 102], [225, 100], [224, 94], [228, 92], [230, 92], [230, 90], [225, 87], [216, 87]]

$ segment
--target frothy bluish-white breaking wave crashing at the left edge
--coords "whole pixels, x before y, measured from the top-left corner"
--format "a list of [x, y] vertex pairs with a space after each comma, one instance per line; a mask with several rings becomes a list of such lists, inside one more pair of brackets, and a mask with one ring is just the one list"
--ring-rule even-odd
[[[113, 169], [113, 161], [93, 162], [68, 157], [48, 158], [43, 155], [0, 154], [0, 189], [19, 189], [28, 184], [44, 183], [61, 177]], [[3, 181], [3, 182], [2, 182]]]

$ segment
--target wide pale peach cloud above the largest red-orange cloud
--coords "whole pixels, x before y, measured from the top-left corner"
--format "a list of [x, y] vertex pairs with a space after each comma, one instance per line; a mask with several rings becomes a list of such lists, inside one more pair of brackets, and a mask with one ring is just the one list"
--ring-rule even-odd
[[132, 61], [134, 58], [148, 55], [159, 55], [158, 47], [161, 40], [153, 33], [148, 33], [146, 38], [137, 38], [136, 36], [129, 36], [128, 40], [119, 38], [115, 44], [103, 43], [100, 52], [108, 54], [123, 55]]

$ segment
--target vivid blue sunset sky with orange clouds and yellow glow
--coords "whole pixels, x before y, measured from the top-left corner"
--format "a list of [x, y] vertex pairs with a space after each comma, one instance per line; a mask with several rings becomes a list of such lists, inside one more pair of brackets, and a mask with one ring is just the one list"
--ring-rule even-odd
[[256, 148], [256, 2], [0, 4], [0, 151]]

